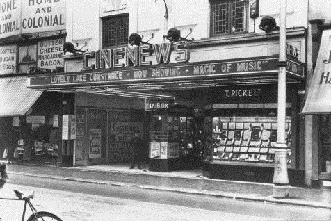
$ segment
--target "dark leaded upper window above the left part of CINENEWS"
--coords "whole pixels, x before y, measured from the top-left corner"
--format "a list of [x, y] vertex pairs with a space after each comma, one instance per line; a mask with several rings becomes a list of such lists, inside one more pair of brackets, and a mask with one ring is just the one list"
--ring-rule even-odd
[[114, 47], [128, 44], [129, 15], [105, 17], [102, 20], [103, 47]]

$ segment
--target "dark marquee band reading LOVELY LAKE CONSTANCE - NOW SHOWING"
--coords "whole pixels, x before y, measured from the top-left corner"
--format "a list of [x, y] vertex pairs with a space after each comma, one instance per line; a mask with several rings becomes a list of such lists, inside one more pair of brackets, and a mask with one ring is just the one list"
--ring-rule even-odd
[[[303, 78], [301, 63], [287, 60], [287, 72]], [[143, 83], [155, 81], [207, 79], [248, 74], [277, 74], [278, 58], [260, 57], [240, 60], [207, 61], [168, 65], [148, 65], [117, 69], [95, 69], [89, 72], [31, 76], [29, 88], [55, 88], [74, 85], [109, 85], [113, 83]]]

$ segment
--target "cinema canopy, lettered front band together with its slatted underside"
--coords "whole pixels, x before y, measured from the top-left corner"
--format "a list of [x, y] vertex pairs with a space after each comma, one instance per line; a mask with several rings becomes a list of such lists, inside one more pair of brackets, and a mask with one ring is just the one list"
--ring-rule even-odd
[[[30, 76], [29, 88], [57, 92], [153, 97], [180, 96], [183, 90], [204, 91], [223, 86], [277, 84], [277, 56], [171, 63], [140, 67], [91, 69]], [[302, 63], [287, 59], [286, 82], [301, 83]], [[197, 95], [200, 95], [197, 93]], [[175, 98], [176, 99], [176, 98]]]

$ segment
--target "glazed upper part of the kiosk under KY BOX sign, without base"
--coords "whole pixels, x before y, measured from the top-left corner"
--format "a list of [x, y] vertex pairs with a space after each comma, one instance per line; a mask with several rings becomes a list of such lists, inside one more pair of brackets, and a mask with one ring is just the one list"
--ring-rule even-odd
[[154, 115], [150, 122], [150, 158], [204, 160], [204, 126], [187, 116]]

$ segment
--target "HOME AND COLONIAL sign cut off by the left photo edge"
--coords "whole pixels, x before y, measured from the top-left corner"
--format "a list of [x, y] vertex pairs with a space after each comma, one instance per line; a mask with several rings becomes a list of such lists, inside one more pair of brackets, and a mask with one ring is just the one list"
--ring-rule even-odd
[[0, 39], [19, 35], [21, 31], [21, 1], [0, 0]]

